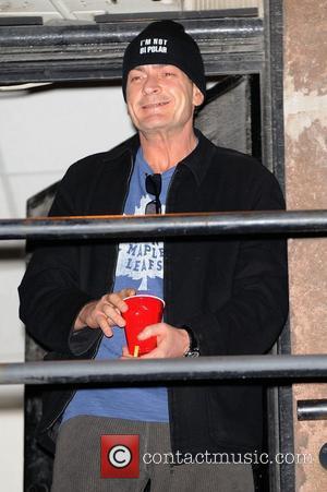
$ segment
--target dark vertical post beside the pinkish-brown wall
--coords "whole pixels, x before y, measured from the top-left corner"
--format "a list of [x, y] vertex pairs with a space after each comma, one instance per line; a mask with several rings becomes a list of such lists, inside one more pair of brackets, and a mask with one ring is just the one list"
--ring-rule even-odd
[[[282, 0], [264, 0], [265, 68], [262, 74], [263, 158], [284, 191], [283, 140], [283, 5]], [[291, 353], [289, 323], [274, 347], [272, 353]], [[269, 454], [293, 453], [293, 408], [291, 386], [268, 391]], [[278, 465], [269, 470], [270, 492], [295, 490], [293, 465]]]

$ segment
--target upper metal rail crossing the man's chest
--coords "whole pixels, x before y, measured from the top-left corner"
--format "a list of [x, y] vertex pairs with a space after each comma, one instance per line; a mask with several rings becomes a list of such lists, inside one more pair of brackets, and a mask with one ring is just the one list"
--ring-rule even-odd
[[326, 235], [327, 211], [83, 216], [0, 219], [1, 239]]

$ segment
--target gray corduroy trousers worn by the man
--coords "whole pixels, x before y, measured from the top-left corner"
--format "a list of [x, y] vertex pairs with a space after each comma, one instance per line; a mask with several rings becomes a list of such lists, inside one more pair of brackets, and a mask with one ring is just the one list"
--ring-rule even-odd
[[[140, 435], [140, 478], [101, 478], [100, 440], [111, 434]], [[254, 491], [251, 465], [172, 465], [169, 454], [168, 423], [75, 417], [59, 431], [51, 492], [143, 492], [147, 485], [152, 492]]]

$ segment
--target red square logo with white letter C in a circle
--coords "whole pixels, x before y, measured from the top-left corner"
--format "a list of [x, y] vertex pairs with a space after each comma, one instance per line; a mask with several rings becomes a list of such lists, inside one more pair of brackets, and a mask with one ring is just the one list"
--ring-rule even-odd
[[140, 477], [140, 435], [101, 435], [101, 478]]

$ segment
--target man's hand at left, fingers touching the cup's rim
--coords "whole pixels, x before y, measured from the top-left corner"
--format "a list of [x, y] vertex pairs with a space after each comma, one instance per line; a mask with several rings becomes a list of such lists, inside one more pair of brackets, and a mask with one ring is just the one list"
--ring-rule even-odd
[[112, 326], [125, 326], [125, 320], [121, 313], [128, 310], [128, 304], [123, 299], [135, 293], [135, 289], [126, 288], [119, 292], [106, 293], [101, 299], [88, 302], [80, 311], [74, 329], [78, 331], [85, 326], [101, 328], [106, 336], [111, 337]]

